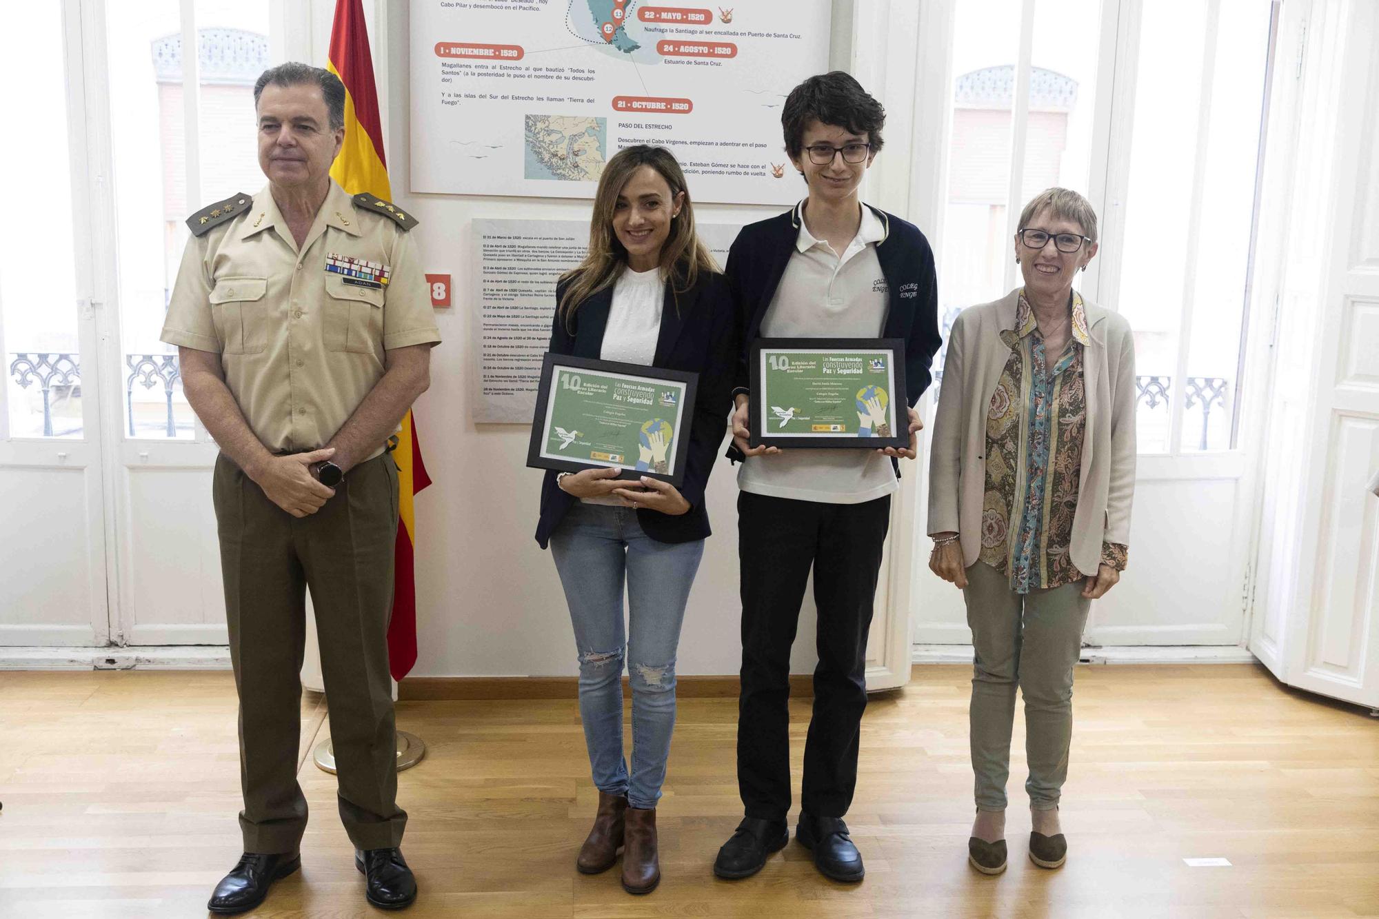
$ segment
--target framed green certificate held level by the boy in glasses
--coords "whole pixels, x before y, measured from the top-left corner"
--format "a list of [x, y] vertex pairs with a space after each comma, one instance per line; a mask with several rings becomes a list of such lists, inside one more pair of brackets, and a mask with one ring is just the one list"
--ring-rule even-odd
[[758, 338], [750, 446], [910, 446], [900, 338]]

